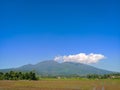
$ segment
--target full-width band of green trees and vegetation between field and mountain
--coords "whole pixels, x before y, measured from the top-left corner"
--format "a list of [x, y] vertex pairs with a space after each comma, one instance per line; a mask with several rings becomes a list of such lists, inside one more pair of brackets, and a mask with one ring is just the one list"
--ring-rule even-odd
[[84, 76], [80, 75], [39, 75], [36, 76], [36, 73], [30, 72], [15, 72], [9, 71], [6, 73], [0, 72], [0, 80], [38, 80], [41, 78], [58, 78], [58, 79], [65, 79], [65, 78], [88, 78], [88, 79], [120, 79], [120, 73], [112, 73], [112, 74], [88, 74]]

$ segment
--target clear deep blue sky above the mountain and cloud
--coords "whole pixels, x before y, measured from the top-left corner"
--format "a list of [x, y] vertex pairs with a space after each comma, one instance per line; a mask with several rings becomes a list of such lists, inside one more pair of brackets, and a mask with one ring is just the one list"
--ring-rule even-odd
[[119, 0], [0, 0], [0, 68], [99, 53], [120, 71]]

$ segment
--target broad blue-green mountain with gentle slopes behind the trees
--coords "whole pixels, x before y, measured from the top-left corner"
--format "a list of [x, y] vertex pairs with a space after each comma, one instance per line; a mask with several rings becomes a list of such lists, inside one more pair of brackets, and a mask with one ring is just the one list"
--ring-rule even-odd
[[108, 74], [113, 73], [111, 71], [98, 69], [93, 66], [82, 64], [82, 63], [73, 63], [73, 62], [64, 62], [58, 63], [53, 60], [43, 61], [35, 65], [27, 64], [18, 68], [11, 69], [1, 69], [2, 72], [7, 71], [32, 71], [34, 70], [39, 75], [87, 75], [87, 74]]

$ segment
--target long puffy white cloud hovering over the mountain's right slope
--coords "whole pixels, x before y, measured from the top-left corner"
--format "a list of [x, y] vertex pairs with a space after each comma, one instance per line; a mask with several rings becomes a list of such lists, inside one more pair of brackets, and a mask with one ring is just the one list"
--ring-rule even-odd
[[97, 63], [101, 59], [104, 59], [105, 56], [102, 54], [85, 54], [85, 53], [79, 53], [75, 55], [68, 55], [68, 56], [56, 56], [54, 58], [54, 61], [57, 62], [76, 62], [76, 63], [84, 63], [84, 64], [91, 64], [91, 63]]

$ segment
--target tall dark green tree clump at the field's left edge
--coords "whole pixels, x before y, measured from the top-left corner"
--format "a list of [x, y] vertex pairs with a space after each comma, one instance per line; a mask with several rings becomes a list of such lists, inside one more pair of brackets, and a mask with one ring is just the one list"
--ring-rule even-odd
[[34, 72], [0, 72], [0, 80], [38, 80]]

